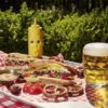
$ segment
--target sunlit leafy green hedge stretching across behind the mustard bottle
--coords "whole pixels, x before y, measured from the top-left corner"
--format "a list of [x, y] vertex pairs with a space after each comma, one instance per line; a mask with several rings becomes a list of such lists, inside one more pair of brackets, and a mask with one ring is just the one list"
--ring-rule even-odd
[[108, 42], [108, 8], [64, 15], [54, 8], [32, 11], [23, 3], [19, 13], [0, 11], [0, 50], [27, 53], [28, 27], [35, 17], [43, 27], [44, 55], [63, 53], [66, 59], [81, 62], [83, 45]]

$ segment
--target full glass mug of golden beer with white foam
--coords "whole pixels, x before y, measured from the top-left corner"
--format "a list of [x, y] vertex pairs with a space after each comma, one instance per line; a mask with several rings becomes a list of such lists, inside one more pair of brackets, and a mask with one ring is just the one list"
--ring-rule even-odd
[[87, 43], [82, 55], [85, 92], [96, 108], [108, 108], [108, 43]]

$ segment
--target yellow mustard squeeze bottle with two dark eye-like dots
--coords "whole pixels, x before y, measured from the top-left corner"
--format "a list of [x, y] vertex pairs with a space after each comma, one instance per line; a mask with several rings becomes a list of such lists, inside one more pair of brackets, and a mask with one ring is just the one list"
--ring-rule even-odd
[[43, 55], [42, 27], [37, 25], [36, 18], [33, 24], [28, 28], [28, 54], [36, 57], [42, 57]]

